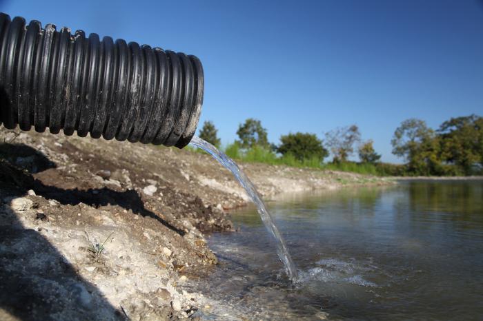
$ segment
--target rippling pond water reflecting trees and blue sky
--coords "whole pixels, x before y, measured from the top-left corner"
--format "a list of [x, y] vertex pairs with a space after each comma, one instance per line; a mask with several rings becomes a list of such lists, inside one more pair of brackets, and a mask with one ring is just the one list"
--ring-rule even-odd
[[208, 238], [220, 264], [194, 290], [216, 320], [482, 320], [483, 181], [409, 181], [268, 202], [301, 282], [255, 208]]

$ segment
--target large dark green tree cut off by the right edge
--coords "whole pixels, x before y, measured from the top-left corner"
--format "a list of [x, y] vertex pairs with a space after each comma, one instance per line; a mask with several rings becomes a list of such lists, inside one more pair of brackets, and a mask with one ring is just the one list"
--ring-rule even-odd
[[448, 163], [472, 174], [475, 163], [483, 164], [483, 118], [477, 115], [451, 118], [437, 130], [441, 156]]

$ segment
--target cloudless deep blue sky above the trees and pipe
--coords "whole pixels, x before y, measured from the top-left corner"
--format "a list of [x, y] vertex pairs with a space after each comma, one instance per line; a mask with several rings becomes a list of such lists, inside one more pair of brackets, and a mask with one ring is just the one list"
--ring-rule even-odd
[[406, 118], [437, 127], [483, 114], [483, 2], [0, 1], [0, 10], [195, 54], [204, 65], [201, 123], [223, 143], [258, 118], [278, 143], [359, 125], [383, 161]]

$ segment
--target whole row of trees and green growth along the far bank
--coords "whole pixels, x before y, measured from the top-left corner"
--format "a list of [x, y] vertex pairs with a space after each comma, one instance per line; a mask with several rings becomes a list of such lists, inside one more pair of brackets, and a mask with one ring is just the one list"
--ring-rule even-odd
[[[289, 133], [280, 136], [280, 143], [268, 142], [262, 123], [248, 118], [239, 125], [239, 139], [226, 147], [225, 152], [235, 158], [251, 156], [250, 160], [287, 165], [322, 167], [324, 159], [332, 155], [337, 169], [361, 166], [371, 173], [395, 176], [471, 175], [483, 172], [483, 118], [477, 115], [451, 118], [437, 130], [425, 121], [410, 118], [403, 121], [391, 140], [393, 154], [406, 162], [395, 165], [380, 162], [373, 140], [362, 140], [357, 125], [337, 127], [326, 132], [324, 140], [311, 133]], [[220, 139], [213, 122], [206, 121], [199, 137], [220, 147]], [[357, 154], [359, 162], [350, 161]], [[326, 163], [327, 164], [327, 163]]]

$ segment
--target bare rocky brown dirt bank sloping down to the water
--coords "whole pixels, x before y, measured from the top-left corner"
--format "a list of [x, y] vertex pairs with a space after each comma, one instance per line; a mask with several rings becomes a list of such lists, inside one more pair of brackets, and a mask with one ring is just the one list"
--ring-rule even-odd
[[[247, 198], [210, 156], [3, 128], [0, 141], [0, 320], [177, 320], [214, 308], [183, 288], [216, 269], [205, 236], [233, 231], [226, 214]], [[265, 198], [392, 183], [242, 168]]]

